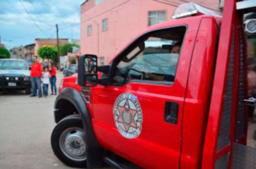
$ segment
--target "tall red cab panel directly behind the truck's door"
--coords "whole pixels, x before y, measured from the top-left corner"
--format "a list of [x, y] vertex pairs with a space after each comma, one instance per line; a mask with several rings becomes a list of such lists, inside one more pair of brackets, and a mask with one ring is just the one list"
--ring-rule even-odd
[[184, 102], [181, 168], [199, 168], [214, 74], [218, 23], [204, 17], [196, 37]]

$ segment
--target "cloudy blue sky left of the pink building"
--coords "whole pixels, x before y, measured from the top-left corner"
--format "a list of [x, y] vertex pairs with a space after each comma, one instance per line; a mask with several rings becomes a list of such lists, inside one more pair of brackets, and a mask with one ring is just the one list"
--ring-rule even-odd
[[0, 0], [0, 36], [8, 49], [35, 38], [80, 38], [80, 4], [85, 0]]

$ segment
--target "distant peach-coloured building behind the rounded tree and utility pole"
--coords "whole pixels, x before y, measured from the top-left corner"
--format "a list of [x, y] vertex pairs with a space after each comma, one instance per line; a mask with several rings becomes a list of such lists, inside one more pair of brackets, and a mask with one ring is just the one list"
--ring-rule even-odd
[[[59, 39], [60, 45], [68, 43], [68, 39]], [[35, 47], [34, 47], [34, 53], [35, 55], [38, 55], [37, 50], [40, 47], [43, 46], [57, 46], [57, 39], [51, 39], [51, 38], [36, 38], [35, 39]]]

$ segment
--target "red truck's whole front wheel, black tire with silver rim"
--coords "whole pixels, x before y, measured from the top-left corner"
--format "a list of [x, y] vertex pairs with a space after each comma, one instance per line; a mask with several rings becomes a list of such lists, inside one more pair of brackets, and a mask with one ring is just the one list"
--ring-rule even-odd
[[58, 122], [52, 131], [52, 149], [55, 155], [70, 167], [87, 167], [86, 141], [82, 120], [73, 114]]

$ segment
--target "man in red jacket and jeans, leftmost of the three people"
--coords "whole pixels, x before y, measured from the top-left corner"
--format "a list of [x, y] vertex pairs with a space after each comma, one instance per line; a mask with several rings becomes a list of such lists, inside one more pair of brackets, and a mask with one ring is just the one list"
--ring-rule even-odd
[[36, 96], [38, 89], [38, 97], [42, 97], [42, 88], [41, 88], [41, 77], [42, 77], [42, 64], [38, 61], [36, 55], [33, 56], [33, 63], [31, 65], [31, 84], [32, 84], [32, 94], [30, 97]]

